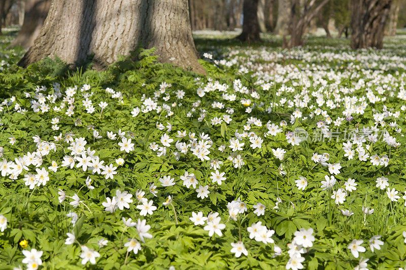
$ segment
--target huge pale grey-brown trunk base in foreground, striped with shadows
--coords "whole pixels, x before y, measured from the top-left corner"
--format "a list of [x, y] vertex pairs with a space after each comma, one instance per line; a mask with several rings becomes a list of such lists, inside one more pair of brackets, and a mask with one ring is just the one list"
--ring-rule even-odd
[[[69, 18], [69, 19], [67, 19]], [[186, 0], [54, 0], [40, 35], [19, 65], [58, 56], [104, 68], [141, 45], [160, 62], [205, 73], [197, 62]]]

